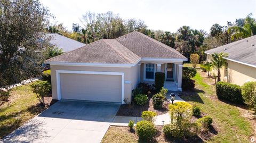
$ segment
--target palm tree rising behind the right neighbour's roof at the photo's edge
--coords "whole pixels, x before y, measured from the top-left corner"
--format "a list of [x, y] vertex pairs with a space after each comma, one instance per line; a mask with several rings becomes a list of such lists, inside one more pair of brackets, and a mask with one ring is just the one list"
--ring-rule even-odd
[[228, 28], [228, 33], [232, 33], [231, 40], [239, 40], [256, 34], [256, 21], [251, 16], [252, 13], [246, 16], [243, 26], [235, 25]]

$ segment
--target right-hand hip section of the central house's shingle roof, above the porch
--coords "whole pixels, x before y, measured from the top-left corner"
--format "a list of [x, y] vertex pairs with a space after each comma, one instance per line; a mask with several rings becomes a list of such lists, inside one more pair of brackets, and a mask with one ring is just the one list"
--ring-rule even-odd
[[116, 38], [116, 40], [142, 58], [179, 58], [187, 60], [174, 48], [137, 31]]

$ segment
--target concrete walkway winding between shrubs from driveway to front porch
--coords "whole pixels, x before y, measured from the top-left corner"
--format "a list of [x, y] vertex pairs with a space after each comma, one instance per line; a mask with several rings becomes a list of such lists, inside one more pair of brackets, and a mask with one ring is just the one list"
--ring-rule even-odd
[[[166, 94], [166, 99], [170, 101], [171, 103], [171, 97], [169, 96], [171, 94], [172, 91], [168, 91]], [[185, 102], [183, 99], [181, 99], [178, 95], [177, 92], [174, 93], [175, 94], [175, 100], [174, 103], [176, 102]], [[132, 120], [134, 121], [134, 125], [141, 121], [141, 117], [137, 116], [115, 116], [113, 123], [111, 123], [110, 125], [116, 125], [116, 126], [127, 126], [129, 121]], [[154, 124], [155, 125], [163, 125], [163, 121], [164, 121], [164, 125], [165, 124], [170, 124], [171, 123], [171, 117], [169, 113], [165, 113], [163, 115], [158, 115], [155, 117], [155, 121]]]

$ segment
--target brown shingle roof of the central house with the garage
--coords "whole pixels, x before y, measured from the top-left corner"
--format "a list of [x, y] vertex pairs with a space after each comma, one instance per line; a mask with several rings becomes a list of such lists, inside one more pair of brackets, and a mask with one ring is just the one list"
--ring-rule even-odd
[[101, 39], [84, 47], [50, 58], [45, 63], [136, 64], [143, 58], [187, 61], [175, 49], [140, 32], [131, 32], [117, 39]]

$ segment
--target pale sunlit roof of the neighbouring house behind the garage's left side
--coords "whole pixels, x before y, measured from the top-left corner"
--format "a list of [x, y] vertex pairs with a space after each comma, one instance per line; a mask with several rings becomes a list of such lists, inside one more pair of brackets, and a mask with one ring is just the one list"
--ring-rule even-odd
[[73, 51], [74, 49], [85, 46], [84, 43], [67, 38], [57, 33], [48, 33], [47, 36], [51, 37], [50, 44], [62, 48], [63, 52]]

